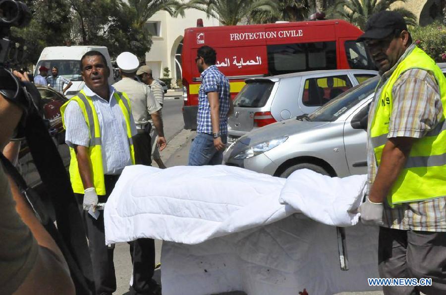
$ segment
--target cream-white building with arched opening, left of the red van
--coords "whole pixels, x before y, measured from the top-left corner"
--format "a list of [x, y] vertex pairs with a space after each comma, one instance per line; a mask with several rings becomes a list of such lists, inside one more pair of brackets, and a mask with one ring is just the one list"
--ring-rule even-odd
[[158, 11], [148, 21], [153, 44], [146, 53], [146, 64], [153, 70], [153, 76], [163, 78], [163, 69], [170, 70], [172, 82], [181, 78], [181, 49], [184, 29], [196, 27], [197, 19], [203, 19], [205, 27], [219, 26], [219, 20], [207, 18], [204, 12], [187, 9], [185, 17], [171, 17], [167, 11]]

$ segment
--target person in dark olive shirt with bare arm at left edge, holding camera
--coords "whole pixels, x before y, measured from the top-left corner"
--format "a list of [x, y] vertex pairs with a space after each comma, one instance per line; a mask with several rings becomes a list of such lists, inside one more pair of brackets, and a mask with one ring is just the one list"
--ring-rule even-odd
[[[14, 72], [22, 81], [25, 77]], [[23, 111], [0, 94], [0, 150], [9, 142]], [[74, 294], [68, 266], [0, 165], [0, 294]]]

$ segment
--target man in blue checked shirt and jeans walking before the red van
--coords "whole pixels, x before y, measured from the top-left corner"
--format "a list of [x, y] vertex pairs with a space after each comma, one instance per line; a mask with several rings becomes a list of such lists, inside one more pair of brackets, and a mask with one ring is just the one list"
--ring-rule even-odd
[[217, 53], [212, 47], [198, 48], [201, 73], [198, 92], [197, 136], [190, 147], [189, 166], [220, 165], [227, 139], [227, 117], [232, 113], [229, 81], [216, 67]]

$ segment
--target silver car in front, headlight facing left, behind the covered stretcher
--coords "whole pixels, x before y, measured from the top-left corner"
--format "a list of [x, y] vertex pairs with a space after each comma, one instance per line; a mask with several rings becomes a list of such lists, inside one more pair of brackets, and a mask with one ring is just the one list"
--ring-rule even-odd
[[[446, 76], [446, 64], [439, 64]], [[223, 163], [274, 176], [297, 169], [331, 176], [367, 173], [367, 117], [379, 77], [355, 86], [312, 114], [271, 124], [240, 137]]]

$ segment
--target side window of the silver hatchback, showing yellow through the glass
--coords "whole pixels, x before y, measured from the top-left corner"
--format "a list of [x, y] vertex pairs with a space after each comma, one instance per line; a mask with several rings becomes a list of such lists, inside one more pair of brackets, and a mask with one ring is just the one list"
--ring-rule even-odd
[[321, 106], [351, 88], [347, 75], [305, 80], [302, 101], [305, 106]]

